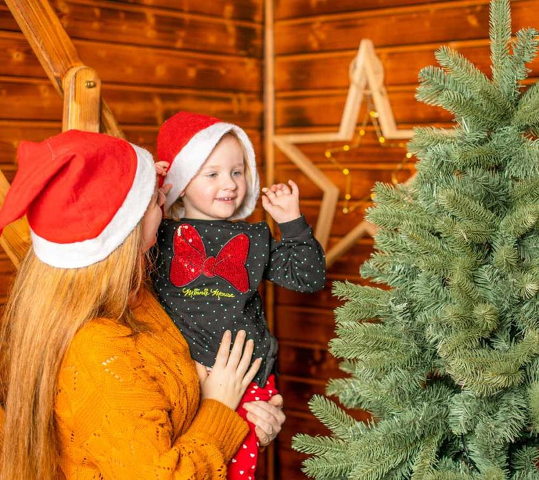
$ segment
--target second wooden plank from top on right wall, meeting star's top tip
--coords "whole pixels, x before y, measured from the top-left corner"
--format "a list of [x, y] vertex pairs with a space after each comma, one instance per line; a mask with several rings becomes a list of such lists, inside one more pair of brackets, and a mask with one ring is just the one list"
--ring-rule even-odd
[[[369, 12], [303, 17], [275, 24], [275, 52], [305, 53], [357, 48], [361, 38], [375, 47], [444, 43], [488, 37], [488, 0], [448, 1]], [[512, 1], [513, 28], [539, 25], [535, 0]]]

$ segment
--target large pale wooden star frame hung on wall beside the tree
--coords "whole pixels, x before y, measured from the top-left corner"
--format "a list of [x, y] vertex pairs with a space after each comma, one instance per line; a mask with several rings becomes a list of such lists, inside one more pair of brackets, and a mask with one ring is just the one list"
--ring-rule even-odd
[[[378, 112], [380, 130], [385, 139], [409, 139], [413, 130], [398, 130], [393, 117], [393, 110], [384, 86], [384, 68], [374, 51], [374, 44], [368, 38], [360, 41], [358, 53], [350, 64], [350, 86], [346, 98], [343, 117], [338, 132], [274, 135], [273, 143], [322, 191], [323, 199], [314, 234], [323, 246], [328, 247], [331, 227], [339, 202], [339, 187], [312, 163], [296, 146], [299, 143], [328, 143], [349, 141], [356, 132], [358, 115], [365, 93], [372, 97]], [[328, 267], [354, 245], [363, 235], [374, 236], [376, 228], [367, 221], [360, 221], [330, 250], [326, 251]]]

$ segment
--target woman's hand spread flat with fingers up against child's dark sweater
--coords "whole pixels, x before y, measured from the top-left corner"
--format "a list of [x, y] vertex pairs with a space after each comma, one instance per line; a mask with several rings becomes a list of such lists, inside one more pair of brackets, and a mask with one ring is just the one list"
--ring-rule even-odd
[[262, 359], [253, 361], [249, 368], [251, 357], [253, 356], [253, 340], [245, 341], [245, 331], [240, 330], [230, 350], [232, 334], [229, 330], [222, 335], [221, 344], [217, 352], [214, 367], [209, 374], [206, 368], [200, 363], [196, 363], [196, 372], [200, 380], [202, 398], [213, 398], [236, 410], [240, 400], [255, 378], [255, 374], [260, 368]]

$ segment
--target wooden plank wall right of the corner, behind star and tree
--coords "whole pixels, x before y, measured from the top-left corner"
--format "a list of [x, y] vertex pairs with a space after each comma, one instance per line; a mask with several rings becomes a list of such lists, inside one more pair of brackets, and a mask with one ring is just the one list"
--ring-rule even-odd
[[[539, 0], [512, 0], [514, 28], [539, 29]], [[275, 0], [275, 93], [277, 134], [338, 130], [348, 88], [349, 62], [362, 38], [371, 38], [385, 68], [385, 84], [400, 128], [448, 123], [450, 116], [414, 99], [417, 72], [432, 64], [433, 52], [450, 44], [489, 73], [488, 0]], [[531, 65], [536, 80], [539, 62]], [[362, 117], [363, 114], [360, 114]], [[362, 117], [363, 118], [363, 117]], [[341, 144], [342, 145], [342, 144]], [[300, 145], [343, 191], [344, 177], [324, 156], [328, 145]], [[331, 145], [334, 146], [334, 145]], [[354, 175], [352, 200], [369, 195], [376, 180], [391, 181], [404, 149], [382, 148], [369, 129], [360, 149], [336, 156]], [[283, 154], [277, 152], [276, 176], [293, 178], [301, 189], [302, 211], [316, 222], [321, 192]], [[411, 169], [400, 171], [404, 180]], [[342, 205], [342, 204], [341, 204]], [[363, 217], [364, 203], [354, 213], [338, 212], [331, 243]], [[341, 376], [327, 350], [334, 336], [333, 311], [339, 302], [330, 294], [334, 280], [360, 281], [358, 268], [371, 252], [371, 240], [356, 246], [336, 262], [328, 285], [314, 295], [277, 289], [275, 322], [279, 337], [279, 387], [288, 421], [279, 438], [277, 459], [282, 479], [303, 478], [304, 457], [290, 449], [298, 431], [325, 434], [310, 415], [307, 402], [322, 393], [328, 378]], [[362, 414], [355, 413], [358, 418]]]

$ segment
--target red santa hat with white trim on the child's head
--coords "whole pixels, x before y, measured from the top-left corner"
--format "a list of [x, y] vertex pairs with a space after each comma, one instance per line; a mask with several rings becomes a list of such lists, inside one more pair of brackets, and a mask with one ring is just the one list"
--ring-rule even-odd
[[170, 163], [163, 180], [165, 184], [172, 184], [165, 200], [165, 211], [176, 202], [187, 184], [196, 176], [222, 136], [229, 132], [238, 137], [251, 171], [251, 184], [247, 187], [245, 199], [230, 219], [242, 219], [253, 213], [260, 181], [256, 171], [255, 150], [249, 137], [238, 125], [192, 112], [178, 112], [170, 117], [161, 125], [157, 136], [157, 156], [159, 160]]

